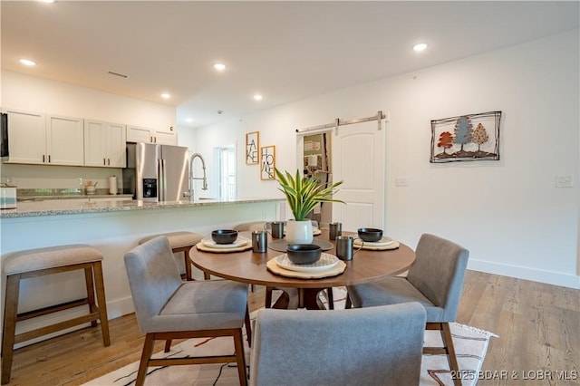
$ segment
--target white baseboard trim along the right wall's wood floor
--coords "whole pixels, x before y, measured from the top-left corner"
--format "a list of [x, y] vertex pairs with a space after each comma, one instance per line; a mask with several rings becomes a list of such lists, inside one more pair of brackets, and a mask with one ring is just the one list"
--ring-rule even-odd
[[469, 259], [468, 269], [486, 272], [488, 274], [531, 280], [534, 282], [545, 283], [546, 285], [559, 285], [580, 289], [580, 276], [578, 275], [568, 275], [561, 272], [544, 271], [521, 265], [499, 264], [471, 259]]

